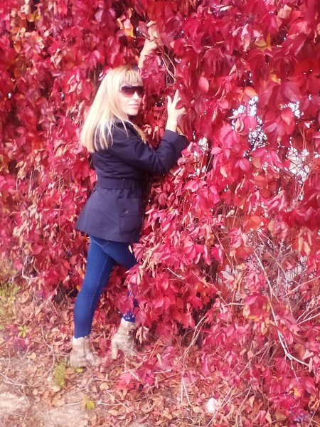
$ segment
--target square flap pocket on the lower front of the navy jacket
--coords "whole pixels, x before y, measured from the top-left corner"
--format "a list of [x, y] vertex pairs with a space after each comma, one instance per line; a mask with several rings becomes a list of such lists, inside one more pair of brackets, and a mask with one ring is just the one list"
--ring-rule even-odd
[[120, 233], [140, 231], [142, 226], [141, 199], [119, 199]]

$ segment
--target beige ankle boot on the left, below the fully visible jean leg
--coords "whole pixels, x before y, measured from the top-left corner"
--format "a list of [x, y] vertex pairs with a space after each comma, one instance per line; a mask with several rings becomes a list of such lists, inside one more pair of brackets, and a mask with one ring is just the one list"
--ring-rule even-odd
[[100, 364], [101, 359], [92, 352], [90, 335], [86, 337], [73, 337], [73, 349], [70, 354], [70, 367], [84, 368], [95, 367]]

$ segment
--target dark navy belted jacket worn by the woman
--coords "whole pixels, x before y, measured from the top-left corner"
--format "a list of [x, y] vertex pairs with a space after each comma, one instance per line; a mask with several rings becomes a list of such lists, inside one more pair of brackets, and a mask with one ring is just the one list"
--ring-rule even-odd
[[142, 226], [145, 172], [169, 172], [188, 142], [178, 133], [165, 130], [159, 148], [154, 150], [144, 144], [132, 125], [126, 127], [129, 136], [117, 122], [113, 144], [91, 154], [97, 182], [75, 227], [105, 240], [132, 243], [139, 240]]

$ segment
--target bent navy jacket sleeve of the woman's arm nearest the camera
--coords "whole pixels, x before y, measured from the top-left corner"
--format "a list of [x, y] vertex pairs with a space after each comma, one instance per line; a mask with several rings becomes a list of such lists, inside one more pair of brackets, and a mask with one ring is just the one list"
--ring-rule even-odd
[[122, 162], [151, 174], [165, 174], [176, 164], [188, 142], [185, 137], [171, 130], [165, 130], [158, 149], [144, 144], [134, 130], [114, 127], [113, 144], [107, 151]]

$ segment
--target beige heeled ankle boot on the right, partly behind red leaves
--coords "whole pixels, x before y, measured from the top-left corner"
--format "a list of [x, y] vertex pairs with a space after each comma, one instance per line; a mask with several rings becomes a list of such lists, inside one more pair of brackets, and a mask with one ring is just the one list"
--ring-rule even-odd
[[119, 329], [111, 339], [111, 357], [117, 359], [118, 351], [122, 350], [125, 356], [134, 356], [137, 350], [134, 344], [134, 332], [137, 330], [135, 323], [127, 322], [122, 317]]

